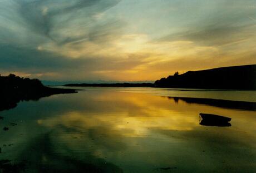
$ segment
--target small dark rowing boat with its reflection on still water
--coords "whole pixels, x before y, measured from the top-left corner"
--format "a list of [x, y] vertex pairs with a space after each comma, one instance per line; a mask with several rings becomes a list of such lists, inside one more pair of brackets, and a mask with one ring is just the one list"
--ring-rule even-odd
[[231, 126], [231, 118], [210, 113], [199, 113], [199, 124], [203, 126]]

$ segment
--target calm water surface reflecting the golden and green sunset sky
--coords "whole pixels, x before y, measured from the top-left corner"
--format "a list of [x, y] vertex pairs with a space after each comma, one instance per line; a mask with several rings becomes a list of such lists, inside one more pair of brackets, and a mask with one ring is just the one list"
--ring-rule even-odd
[[[177, 98], [256, 102], [255, 91], [83, 89], [0, 112], [0, 160], [24, 162], [26, 172], [256, 170], [255, 107]], [[201, 126], [200, 112], [232, 126]]]

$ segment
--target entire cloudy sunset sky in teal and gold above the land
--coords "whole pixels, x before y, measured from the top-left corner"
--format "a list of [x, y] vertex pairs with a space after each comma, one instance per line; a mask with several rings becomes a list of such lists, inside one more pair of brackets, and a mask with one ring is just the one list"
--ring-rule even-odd
[[256, 63], [256, 0], [0, 0], [0, 73], [148, 81]]

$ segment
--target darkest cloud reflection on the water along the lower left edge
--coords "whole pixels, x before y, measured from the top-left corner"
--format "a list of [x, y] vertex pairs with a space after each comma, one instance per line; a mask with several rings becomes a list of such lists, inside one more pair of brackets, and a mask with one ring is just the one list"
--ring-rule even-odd
[[65, 143], [55, 145], [52, 133], [48, 132], [30, 141], [21, 153], [20, 157], [29, 160], [29, 169], [38, 172], [122, 172], [119, 167], [91, 152], [80, 154], [70, 150], [70, 146]]

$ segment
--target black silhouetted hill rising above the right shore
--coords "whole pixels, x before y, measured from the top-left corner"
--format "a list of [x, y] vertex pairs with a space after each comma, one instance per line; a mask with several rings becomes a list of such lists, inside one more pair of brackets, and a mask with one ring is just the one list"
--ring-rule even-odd
[[154, 87], [256, 90], [256, 65], [175, 73], [155, 81]]

